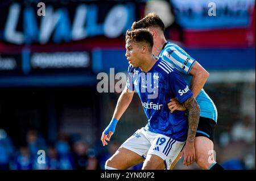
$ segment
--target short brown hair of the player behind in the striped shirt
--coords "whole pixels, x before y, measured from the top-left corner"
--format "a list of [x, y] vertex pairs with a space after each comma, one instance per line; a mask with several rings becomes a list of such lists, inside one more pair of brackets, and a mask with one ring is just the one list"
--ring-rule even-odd
[[138, 22], [133, 22], [131, 26], [131, 30], [141, 29], [141, 28], [149, 28], [149, 27], [159, 27], [164, 32], [164, 23], [162, 19], [160, 19], [159, 15], [151, 12], [146, 15], [143, 19]]

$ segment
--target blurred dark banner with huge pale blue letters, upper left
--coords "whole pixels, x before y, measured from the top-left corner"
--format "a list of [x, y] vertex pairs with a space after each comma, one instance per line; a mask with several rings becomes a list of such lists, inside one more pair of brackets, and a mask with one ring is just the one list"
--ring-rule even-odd
[[45, 45], [92, 37], [114, 39], [125, 35], [139, 8], [130, 1], [28, 2], [1, 3], [0, 41]]

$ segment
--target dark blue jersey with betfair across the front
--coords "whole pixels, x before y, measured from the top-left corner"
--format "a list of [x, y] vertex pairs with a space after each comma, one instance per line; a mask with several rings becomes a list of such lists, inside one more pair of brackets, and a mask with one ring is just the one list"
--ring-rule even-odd
[[170, 63], [159, 58], [147, 73], [130, 65], [127, 88], [137, 91], [141, 98], [148, 119], [148, 131], [164, 134], [177, 141], [187, 139], [188, 119], [185, 111], [171, 113], [167, 103], [171, 98], [183, 103], [193, 94], [179, 71], [171, 68]]

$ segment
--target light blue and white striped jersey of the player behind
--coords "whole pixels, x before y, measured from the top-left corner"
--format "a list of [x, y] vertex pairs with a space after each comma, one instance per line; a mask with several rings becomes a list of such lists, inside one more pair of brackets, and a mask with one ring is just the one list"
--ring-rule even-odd
[[[172, 68], [179, 70], [185, 82], [189, 86], [191, 85], [192, 76], [189, 75], [189, 71], [195, 64], [196, 60], [189, 56], [188, 53], [186, 53], [178, 45], [168, 42], [164, 44], [159, 54], [159, 58], [170, 62]], [[200, 116], [208, 117], [209, 119], [217, 122], [217, 108], [204, 89], [199, 92], [196, 100], [200, 106]]]

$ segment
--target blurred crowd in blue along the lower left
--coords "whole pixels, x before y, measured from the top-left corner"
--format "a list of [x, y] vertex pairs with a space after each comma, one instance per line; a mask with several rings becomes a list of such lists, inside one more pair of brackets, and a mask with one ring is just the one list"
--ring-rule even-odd
[[26, 134], [26, 144], [16, 148], [11, 137], [0, 129], [1, 170], [96, 170], [100, 169], [97, 151], [80, 138], [61, 134], [55, 143], [47, 144], [37, 131]]

